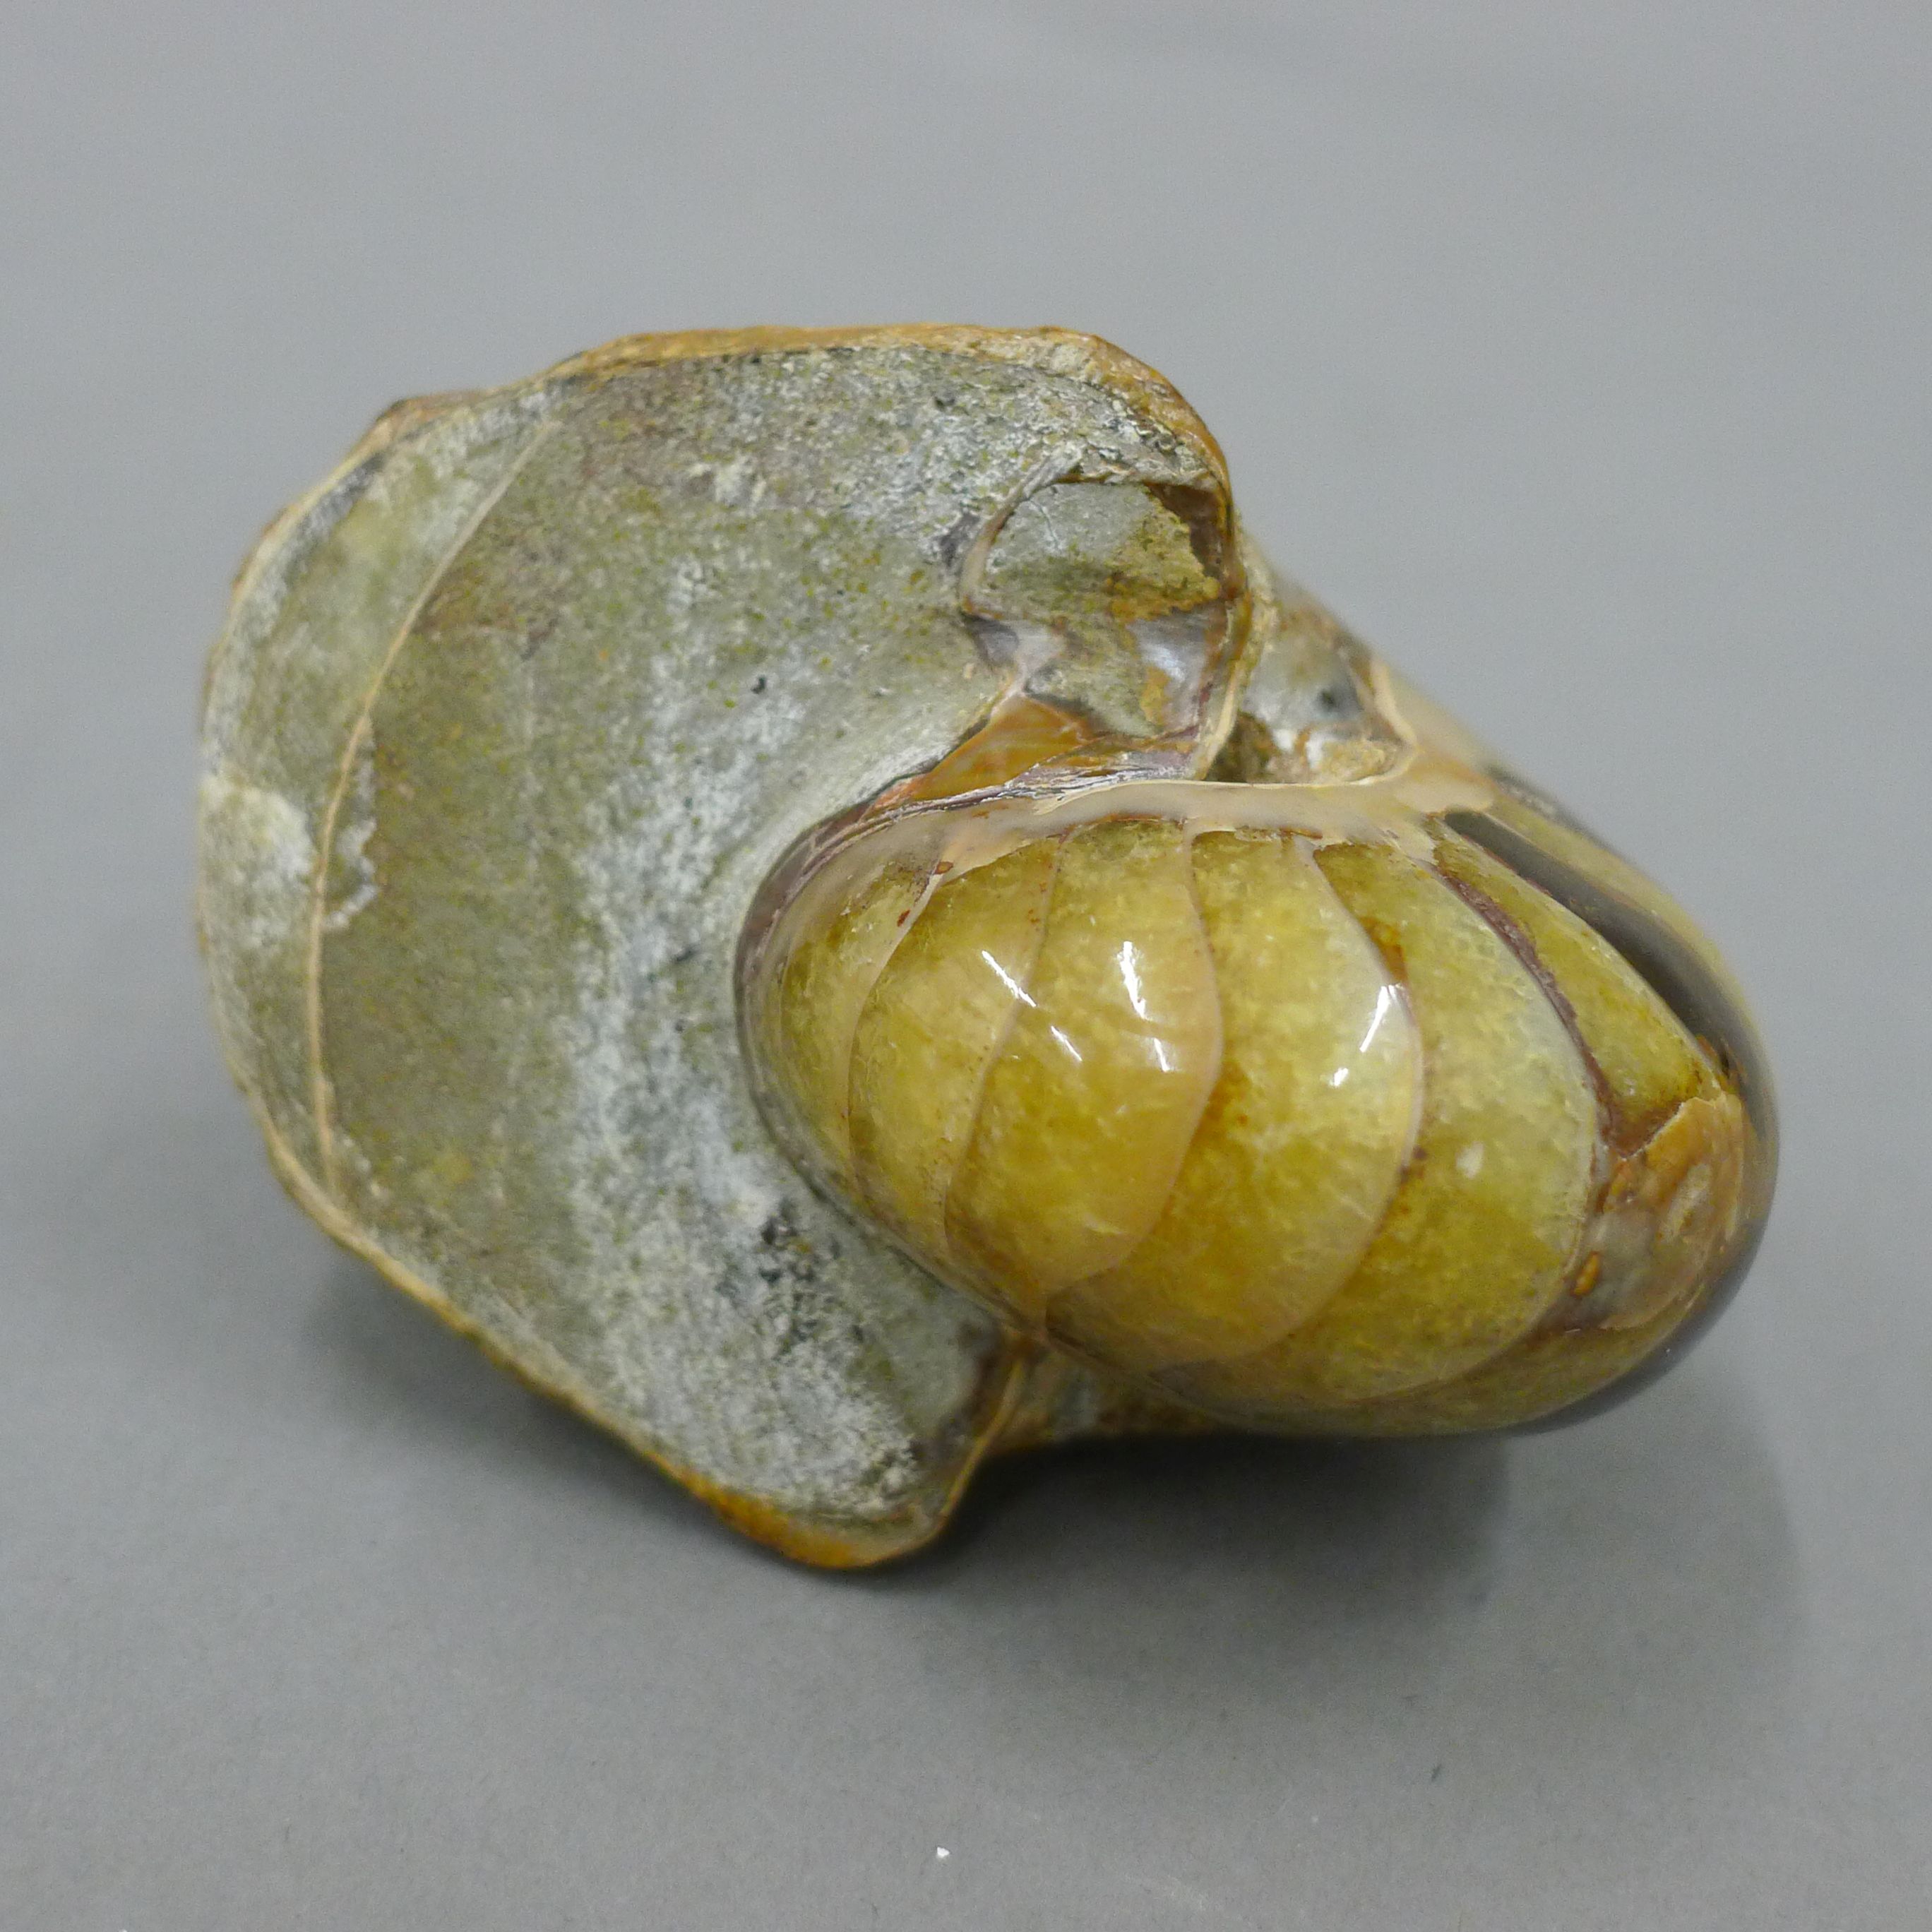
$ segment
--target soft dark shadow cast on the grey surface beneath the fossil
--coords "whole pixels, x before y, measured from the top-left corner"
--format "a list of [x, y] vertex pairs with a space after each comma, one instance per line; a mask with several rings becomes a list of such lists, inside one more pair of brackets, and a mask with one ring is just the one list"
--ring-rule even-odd
[[755, 1563], [775, 1613], [813, 1629], [837, 1592], [848, 1642], [976, 1712], [1020, 1760], [1159, 1754], [1219, 1714], [1231, 1737], [1260, 1727], [1260, 1750], [1283, 1748], [1283, 1725], [1352, 1754], [1434, 1725], [1557, 1772], [1652, 1750], [1710, 1770], [1793, 1675], [1776, 1466], [1719, 1364], [1538, 1437], [999, 1459], [927, 1551], [823, 1575], [744, 1548], [359, 1262], [328, 1273], [307, 1341], [367, 1420], [601, 1492], [597, 1507], [649, 1519], [647, 1542], [672, 1536], [701, 1567], [724, 1557], [699, 1590], [744, 1588], [732, 1565]]

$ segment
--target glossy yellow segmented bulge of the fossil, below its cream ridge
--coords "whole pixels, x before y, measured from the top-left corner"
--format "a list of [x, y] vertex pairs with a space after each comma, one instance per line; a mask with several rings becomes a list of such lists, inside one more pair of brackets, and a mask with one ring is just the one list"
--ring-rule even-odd
[[1605, 939], [1426, 850], [1117, 817], [893, 864], [767, 943], [777, 1117], [945, 1279], [1209, 1412], [1555, 1414], [1723, 1281], [1768, 1150]]

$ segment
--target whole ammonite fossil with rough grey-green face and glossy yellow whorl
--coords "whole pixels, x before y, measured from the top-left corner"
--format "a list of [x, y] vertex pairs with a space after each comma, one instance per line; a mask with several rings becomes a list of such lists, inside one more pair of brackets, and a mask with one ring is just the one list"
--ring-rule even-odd
[[201, 925], [301, 1206], [817, 1563], [997, 1449], [1578, 1414], [1770, 1198], [1704, 939], [1059, 330], [390, 410], [236, 589]]

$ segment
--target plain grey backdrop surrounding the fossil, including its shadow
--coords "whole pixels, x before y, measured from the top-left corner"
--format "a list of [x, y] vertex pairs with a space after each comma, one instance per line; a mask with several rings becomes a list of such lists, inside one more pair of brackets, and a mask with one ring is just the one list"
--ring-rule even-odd
[[[104, 6], [0, 29], [0, 1924], [1932, 1924], [1932, 14]], [[1700, 912], [1712, 1341], [790, 1569], [336, 1254], [189, 933], [228, 572], [605, 336], [1068, 323]], [[947, 1849], [941, 1857], [939, 1847]]]

